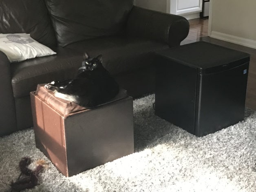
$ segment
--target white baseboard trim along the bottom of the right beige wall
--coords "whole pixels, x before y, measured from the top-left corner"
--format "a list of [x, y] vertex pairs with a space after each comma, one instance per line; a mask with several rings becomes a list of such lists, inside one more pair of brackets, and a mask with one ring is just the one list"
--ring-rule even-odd
[[211, 38], [247, 46], [250, 48], [256, 49], [256, 41], [255, 40], [250, 40], [250, 39], [245, 39], [245, 38], [240, 38], [234, 35], [228, 35], [225, 33], [220, 33], [217, 31], [211, 31], [211, 34], [209, 35]]

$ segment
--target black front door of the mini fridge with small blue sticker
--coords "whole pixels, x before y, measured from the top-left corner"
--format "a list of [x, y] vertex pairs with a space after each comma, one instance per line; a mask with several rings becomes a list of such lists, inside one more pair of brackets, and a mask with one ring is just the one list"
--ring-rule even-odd
[[244, 119], [249, 62], [200, 75], [196, 135], [213, 133]]

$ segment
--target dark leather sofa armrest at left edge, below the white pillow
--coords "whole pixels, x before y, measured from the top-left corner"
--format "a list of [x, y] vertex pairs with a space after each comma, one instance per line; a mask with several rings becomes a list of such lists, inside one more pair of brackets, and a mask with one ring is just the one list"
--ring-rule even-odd
[[10, 68], [7, 56], [0, 51], [0, 137], [17, 129]]

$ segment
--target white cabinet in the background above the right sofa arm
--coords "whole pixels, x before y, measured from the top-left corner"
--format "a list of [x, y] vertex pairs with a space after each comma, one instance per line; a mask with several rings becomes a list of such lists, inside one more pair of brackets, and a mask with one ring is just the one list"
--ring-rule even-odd
[[175, 15], [199, 14], [203, 0], [167, 0], [166, 12]]

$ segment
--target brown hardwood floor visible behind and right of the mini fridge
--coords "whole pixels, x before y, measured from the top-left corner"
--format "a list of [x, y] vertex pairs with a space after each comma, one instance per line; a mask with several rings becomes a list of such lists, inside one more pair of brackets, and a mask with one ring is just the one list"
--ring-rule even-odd
[[256, 49], [208, 37], [208, 19], [193, 19], [189, 20], [189, 22], [190, 32], [188, 37], [183, 40], [181, 44], [188, 44], [202, 40], [225, 46], [230, 49], [243, 51], [251, 55], [245, 106], [256, 110]]

